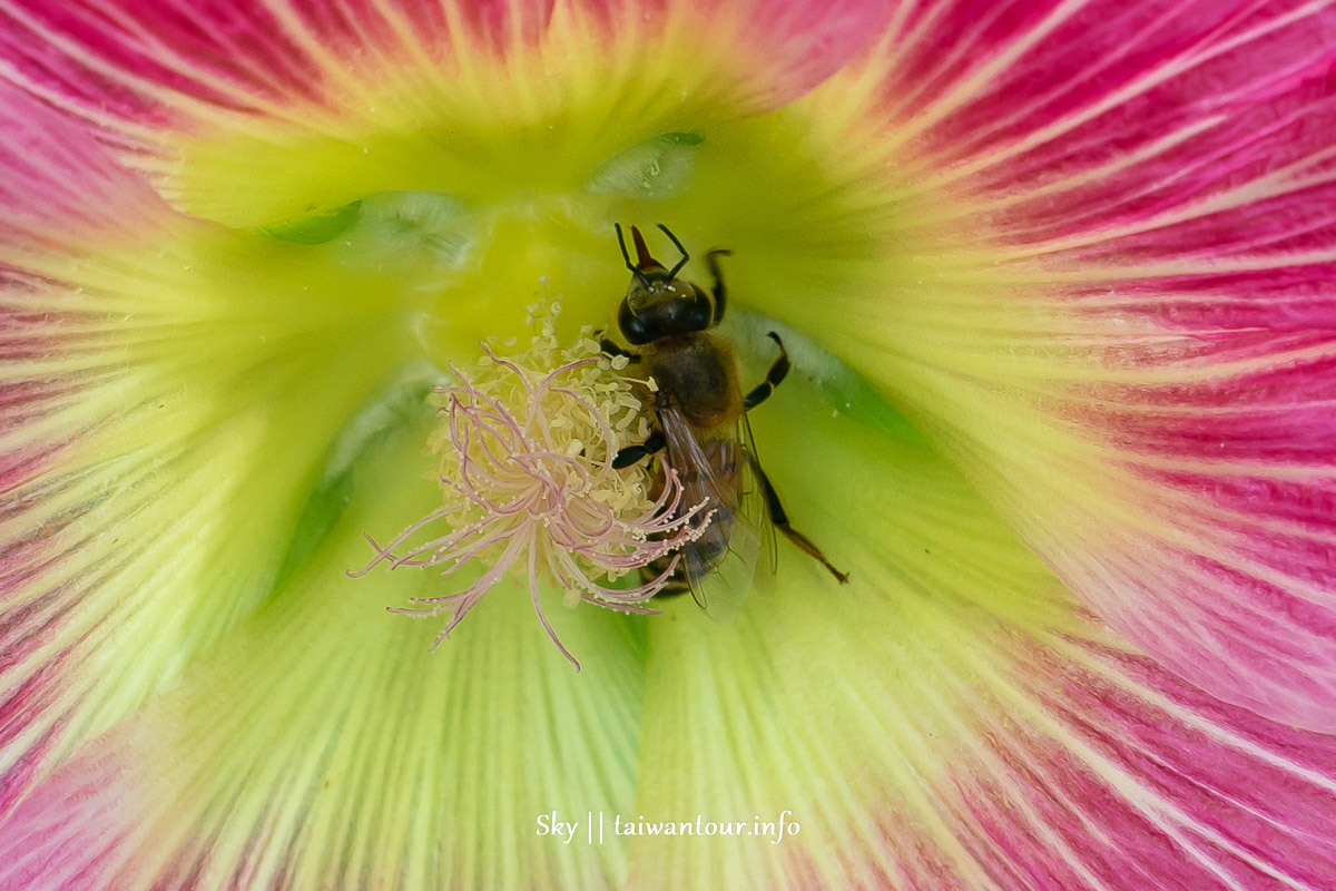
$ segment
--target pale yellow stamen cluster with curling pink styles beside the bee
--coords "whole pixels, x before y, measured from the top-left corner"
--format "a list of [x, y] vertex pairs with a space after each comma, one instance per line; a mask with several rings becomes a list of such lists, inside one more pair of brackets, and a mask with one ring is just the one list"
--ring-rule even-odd
[[[381, 562], [391, 569], [445, 566], [444, 576], [484, 566], [464, 590], [391, 608], [422, 617], [450, 610], [434, 649], [516, 569], [528, 576], [533, 606], [552, 641], [578, 668], [542, 612], [540, 577], [566, 590], [568, 606], [584, 600], [631, 613], [657, 612], [644, 602], [663, 589], [676, 556], [647, 582], [613, 582], [699, 536], [703, 524], [693, 528], [691, 521], [704, 506], [683, 509], [681, 485], [671, 469], [655, 486], [643, 465], [612, 466], [621, 448], [649, 434], [637, 391], [647, 393], [652, 382], [620, 374], [627, 359], [603, 355], [589, 329], [576, 346], [561, 347], [553, 326], [558, 305], [529, 310], [540, 334], [528, 350], [501, 357], [493, 339], [482, 345], [472, 375], [452, 365], [458, 383], [436, 389], [441, 423], [430, 445], [441, 456], [442, 505], [383, 546], [367, 536], [377, 556], [353, 574]], [[653, 493], [656, 488], [661, 492]], [[410, 544], [437, 526], [448, 532]]]

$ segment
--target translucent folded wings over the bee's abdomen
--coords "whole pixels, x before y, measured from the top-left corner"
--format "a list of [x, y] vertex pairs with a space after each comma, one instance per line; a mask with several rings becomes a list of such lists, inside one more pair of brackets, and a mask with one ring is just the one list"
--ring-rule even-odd
[[683, 566], [692, 597], [723, 621], [747, 598], [758, 564], [774, 565], [774, 532], [747, 449], [751, 430], [743, 419], [736, 431], [701, 439], [671, 406], [659, 410], [659, 422], [668, 465], [683, 486], [683, 506], [704, 501], [713, 512], [700, 537], [683, 548]]

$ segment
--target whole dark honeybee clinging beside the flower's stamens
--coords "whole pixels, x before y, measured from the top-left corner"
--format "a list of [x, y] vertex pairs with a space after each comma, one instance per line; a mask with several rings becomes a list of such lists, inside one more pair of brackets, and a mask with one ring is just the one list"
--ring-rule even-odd
[[[752, 586], [758, 570], [775, 570], [775, 529], [803, 552], [811, 554], [838, 581], [848, 574], [836, 569], [822, 549], [794, 529], [775, 494], [775, 488], [756, 458], [747, 413], [764, 402], [788, 374], [788, 353], [779, 334], [770, 338], [779, 347], [766, 379], [743, 394], [732, 347], [709, 329], [724, 318], [727, 291], [719, 258], [731, 251], [712, 250], [705, 266], [713, 278], [707, 293], [699, 285], [677, 278], [691, 259], [677, 236], [660, 224], [664, 235], [681, 254], [668, 269], [651, 255], [640, 230], [631, 227], [636, 247], [632, 262], [621, 226], [616, 226], [621, 256], [631, 270], [631, 285], [617, 307], [617, 327], [628, 351], [608, 338], [600, 345], [609, 355], [624, 355], [636, 374], [655, 381], [652, 433], [641, 445], [627, 446], [613, 460], [615, 468], [629, 468], [667, 450], [683, 486], [681, 504], [701, 502], [704, 528], [681, 548], [673, 577], [659, 596], [691, 590], [707, 613], [727, 617]], [[657, 462], [659, 486], [664, 485], [664, 462]], [[659, 576], [671, 557], [645, 566], [647, 578]]]

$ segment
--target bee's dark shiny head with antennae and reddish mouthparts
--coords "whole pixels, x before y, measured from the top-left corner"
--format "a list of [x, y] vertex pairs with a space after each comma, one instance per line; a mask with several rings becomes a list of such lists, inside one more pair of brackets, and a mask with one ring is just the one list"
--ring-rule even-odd
[[627, 242], [617, 226], [617, 242], [621, 255], [631, 270], [631, 285], [627, 297], [617, 307], [617, 327], [633, 346], [657, 341], [669, 334], [704, 331], [715, 318], [715, 302], [704, 290], [691, 282], [677, 281], [677, 273], [691, 259], [681, 242], [663, 224], [659, 226], [672, 243], [681, 251], [681, 259], [671, 270], [656, 260], [645, 246], [640, 230], [631, 227], [631, 239], [636, 244], [636, 262], [631, 262]]

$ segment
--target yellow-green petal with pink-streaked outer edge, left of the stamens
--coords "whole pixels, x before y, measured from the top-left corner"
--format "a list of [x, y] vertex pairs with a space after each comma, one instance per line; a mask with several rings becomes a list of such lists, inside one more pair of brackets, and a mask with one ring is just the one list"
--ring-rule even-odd
[[[0, 769], [12, 792], [174, 683], [267, 600], [347, 417], [385, 386], [403, 334], [391, 282], [310, 248], [179, 219], [131, 247], [33, 252], [13, 294], [43, 349], [0, 367], [45, 390], [0, 433], [41, 453], [0, 517], [9, 542]], [[59, 283], [59, 285], [55, 285]], [[20, 781], [17, 777], [23, 777]]]

